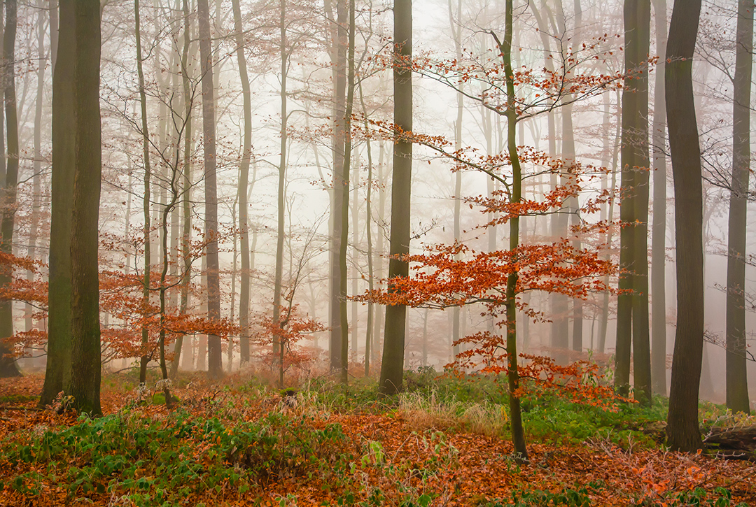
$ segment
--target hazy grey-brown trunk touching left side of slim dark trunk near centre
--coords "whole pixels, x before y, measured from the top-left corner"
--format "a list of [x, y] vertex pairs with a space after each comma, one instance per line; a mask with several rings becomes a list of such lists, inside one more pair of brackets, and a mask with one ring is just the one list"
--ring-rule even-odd
[[[341, 224], [342, 224], [342, 207], [343, 192], [341, 185], [344, 181], [342, 171], [344, 169], [344, 111], [346, 109], [346, 51], [348, 34], [346, 29], [347, 4], [346, 0], [336, 0], [336, 45], [332, 54], [332, 63], [336, 82], [333, 100], [333, 116], [336, 121], [333, 125], [333, 206], [331, 207], [331, 258], [330, 258], [330, 341], [329, 355], [330, 368], [340, 369], [341, 363], [341, 264], [339, 256], [341, 255]], [[333, 57], [335, 56], [335, 61]]]

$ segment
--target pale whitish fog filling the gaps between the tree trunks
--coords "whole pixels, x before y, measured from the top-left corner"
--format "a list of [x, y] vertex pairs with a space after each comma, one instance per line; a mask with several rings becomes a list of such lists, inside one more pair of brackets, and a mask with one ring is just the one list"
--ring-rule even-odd
[[[39, 261], [39, 271], [27, 276], [17, 269], [15, 276], [30, 278], [44, 283], [47, 276], [47, 255], [51, 218], [51, 97], [53, 71], [51, 60], [51, 24], [49, 2], [31, 0], [19, 5], [18, 33], [15, 54], [15, 82], [20, 128], [20, 175], [17, 186], [17, 206], [14, 208], [13, 253], [19, 257], [32, 256]], [[299, 314], [308, 315], [322, 323], [325, 328], [334, 325], [330, 317], [330, 305], [334, 298], [330, 289], [332, 271], [330, 249], [333, 248], [333, 172], [334, 128], [337, 117], [334, 109], [333, 56], [338, 52], [339, 42], [331, 35], [336, 30], [336, 4], [341, 2], [319, 1], [285, 2], [287, 5], [286, 34], [287, 52], [287, 144], [285, 163], [284, 237], [282, 261], [282, 293], [288, 308], [298, 307]], [[536, 2], [539, 3], [539, 2]], [[571, 47], [575, 38], [581, 40], [586, 54], [600, 54], [601, 58], [587, 60], [576, 67], [597, 74], [621, 73], [624, 67], [622, 45], [623, 20], [621, 2], [575, 2], [581, 11], [575, 12], [572, 2], [540, 2], [538, 11], [550, 17], [548, 26], [556, 28], [559, 20], [565, 30], [550, 30], [547, 39], [550, 51], [542, 45], [538, 21], [534, 9], [516, 2], [514, 20], [514, 61], [518, 69], [541, 73], [547, 60], [559, 63], [559, 47]], [[699, 51], [694, 60], [693, 77], [696, 93], [696, 114], [701, 135], [702, 159], [704, 159], [705, 193], [705, 329], [708, 342], [705, 344], [702, 371], [701, 396], [717, 402], [725, 397], [725, 349], [723, 346], [726, 327], [727, 293], [727, 230], [730, 190], [723, 187], [729, 180], [732, 165], [733, 129], [733, 82], [735, 61], [735, 14], [730, 11], [731, 2], [716, 0], [702, 13], [699, 30]], [[141, 3], [141, 45], [144, 66], [144, 91], [146, 96], [147, 125], [150, 128], [149, 157], [153, 166], [153, 188], [149, 216], [151, 218], [150, 242], [152, 243], [151, 269], [161, 269], [160, 258], [160, 212], [169, 201], [166, 178], [170, 174], [170, 161], [175, 160], [178, 172], [184, 171], [184, 138], [178, 127], [185, 120], [187, 104], [184, 77], [188, 77], [193, 103], [191, 118], [193, 131], [191, 151], [191, 202], [190, 215], [184, 216], [181, 206], [168, 213], [169, 257], [172, 267], [169, 274], [180, 277], [178, 267], [181, 253], [181, 227], [187, 220], [194, 227], [191, 240], [200, 245], [204, 239], [203, 220], [206, 202], [203, 200], [203, 117], [200, 73], [199, 36], [197, 33], [197, 6], [187, 2], [184, 12], [181, 0], [153, 0]], [[248, 236], [250, 243], [249, 274], [249, 331], [235, 329], [225, 338], [223, 368], [226, 371], [249, 368], [240, 363], [240, 337], [252, 339], [253, 367], [265, 369], [270, 362], [269, 344], [256, 339], [264, 335], [263, 321], [273, 311], [277, 213], [279, 198], [278, 177], [281, 155], [281, 61], [280, 61], [280, 4], [278, 2], [248, 2], [241, 0], [244, 57], [249, 73], [252, 112], [252, 148], [249, 167], [249, 185], [239, 189], [240, 164], [243, 156], [243, 89], [237, 60], [237, 39], [234, 28], [232, 2], [211, 0], [209, 2], [212, 29], [212, 68], [215, 79], [215, 125], [217, 144], [218, 178], [218, 242], [220, 249], [221, 315], [230, 323], [239, 326], [241, 297], [241, 238], [244, 231], [239, 224], [239, 192], [248, 194]], [[345, 2], [344, 2], [345, 4]], [[119, 271], [136, 278], [144, 274], [144, 155], [143, 132], [141, 131], [140, 84], [137, 73], [135, 47], [135, 3], [124, 0], [102, 2], [102, 54], [101, 54], [101, 117], [103, 177], [100, 207], [100, 268], [101, 271]], [[459, 14], [457, 14], [459, 9]], [[670, 7], [671, 13], [671, 7]], [[187, 17], [188, 14], [188, 17]], [[655, 48], [654, 19], [652, 11], [650, 56], [657, 55]], [[352, 175], [349, 190], [349, 265], [348, 295], [363, 295], [369, 289], [367, 255], [372, 255], [373, 283], [376, 288], [385, 287], [382, 279], [388, 274], [389, 234], [392, 202], [392, 152], [394, 144], [380, 126], [369, 122], [392, 122], [393, 88], [392, 70], [380, 55], [392, 50], [392, 4], [390, 2], [357, 2], [355, 12], [355, 66], [358, 86], [355, 90], [353, 116]], [[669, 13], [667, 14], [667, 20]], [[185, 23], [188, 21], [188, 23]], [[457, 58], [482, 58], [489, 54], [494, 60], [494, 37], [503, 34], [504, 16], [502, 2], [456, 0], [416, 1], [413, 5], [413, 52], [418, 62], [450, 61]], [[184, 48], [184, 26], [190, 26], [187, 66], [182, 68], [181, 51]], [[458, 34], [462, 55], [455, 49], [455, 33]], [[606, 39], [602, 39], [606, 35]], [[598, 39], [596, 39], [598, 38]], [[597, 47], [593, 48], [593, 44]], [[428, 60], [423, 60], [428, 59]], [[383, 62], [383, 63], [382, 63]], [[429, 65], [417, 63], [413, 77], [414, 107], [413, 131], [417, 134], [442, 136], [449, 142], [446, 150], [454, 147], [457, 127], [457, 89], [450, 82], [439, 79], [438, 73]], [[40, 73], [40, 68], [44, 72]], [[650, 66], [649, 76], [649, 122], [655, 111], [654, 79], [657, 69]], [[39, 78], [42, 77], [41, 86]], [[453, 81], [453, 80], [452, 80]], [[454, 83], [452, 83], [454, 84]], [[460, 86], [457, 83], [457, 88]], [[462, 86], [469, 95], [463, 100], [460, 147], [477, 155], [495, 156], [504, 153], [507, 142], [507, 118], [491, 113], [491, 110], [476, 100], [484, 92], [476, 79]], [[491, 92], [493, 93], [493, 92]], [[41, 125], [36, 125], [37, 104], [42, 104]], [[485, 101], [484, 101], [485, 102]], [[591, 92], [572, 106], [571, 132], [575, 141], [575, 160], [606, 167], [608, 172], [601, 178], [587, 183], [578, 196], [584, 204], [612, 181], [620, 186], [621, 159], [620, 138], [617, 138], [617, 122], [621, 118], [621, 91], [613, 85], [606, 91]], [[533, 147], [550, 153], [555, 159], [562, 156], [565, 135], [562, 131], [563, 107], [554, 107], [553, 119], [556, 134], [549, 138], [548, 113], [539, 114], [519, 122], [517, 144]], [[751, 130], [754, 119], [751, 114]], [[35, 136], [39, 129], [37, 153]], [[370, 141], [368, 153], [367, 141]], [[438, 141], [441, 143], [441, 141]], [[650, 150], [651, 139], [646, 141]], [[695, 149], [691, 147], [691, 149]], [[662, 147], [668, 155], [668, 147]], [[454, 172], [448, 156], [439, 154], [432, 147], [415, 144], [411, 184], [411, 243], [412, 253], [421, 253], [426, 247], [451, 245], [455, 240], [455, 202], [475, 196], [491, 196], [502, 190], [483, 172], [465, 168]], [[368, 168], [370, 181], [370, 216], [367, 216]], [[674, 348], [676, 311], [676, 266], [674, 233], [674, 184], [671, 162], [667, 162], [667, 216], [666, 232], [666, 324], [668, 370]], [[509, 174], [508, 167], [502, 167]], [[461, 190], [457, 195], [455, 179], [461, 175]], [[653, 178], [652, 178], [653, 179]], [[525, 181], [523, 191], [531, 199], [544, 199], [544, 191], [556, 181], [556, 176], [536, 175]], [[162, 184], [161, 184], [162, 182]], [[749, 188], [752, 189], [752, 182]], [[186, 195], [186, 189], [181, 195]], [[650, 193], [653, 196], [653, 189]], [[749, 193], [753, 196], [753, 193]], [[653, 202], [649, 202], [649, 264], [651, 261], [652, 224], [658, 217], [652, 215]], [[619, 260], [619, 206], [612, 207], [614, 216], [609, 218], [609, 203], [587, 215], [586, 221], [596, 222], [612, 219], [612, 244], [606, 249], [613, 261]], [[459, 240], [476, 251], [508, 248], [508, 228], [482, 227], [491, 220], [477, 206], [462, 202], [459, 210]], [[746, 238], [748, 251], [754, 245], [754, 206], [748, 203], [748, 227]], [[551, 237], [550, 215], [522, 218], [522, 237]], [[370, 227], [371, 251], [368, 252], [367, 227]], [[197, 252], [201, 252], [201, 245]], [[191, 264], [192, 289], [189, 291], [187, 314], [203, 315], [207, 311], [206, 288], [203, 288], [203, 255], [198, 253]], [[649, 267], [654, 272], [658, 268]], [[156, 275], [155, 275], [156, 276]], [[748, 345], [754, 343], [754, 312], [749, 305], [749, 295], [756, 290], [754, 263], [747, 263], [745, 274], [746, 335]], [[156, 283], [153, 278], [152, 283]], [[383, 284], [383, 285], [382, 285]], [[617, 275], [611, 280], [617, 286]], [[133, 289], [133, 287], [132, 287]], [[128, 290], [132, 290], [128, 289]], [[153, 290], [156, 286], [153, 286]], [[122, 296], [135, 297], [127, 289]], [[141, 289], [136, 289], [139, 294]], [[128, 294], [128, 295], [127, 295]], [[291, 296], [291, 297], [290, 297]], [[101, 296], [105, 297], [105, 296]], [[112, 297], [112, 295], [107, 295]], [[156, 296], [153, 296], [156, 297]], [[655, 295], [652, 293], [650, 298]], [[554, 354], [551, 339], [552, 323], [550, 296], [544, 292], [528, 292], [519, 296], [527, 298], [528, 305], [543, 312], [540, 321], [529, 319], [520, 312], [518, 339], [522, 351], [531, 354]], [[178, 311], [180, 292], [178, 283], [169, 293], [169, 307]], [[582, 348], [575, 358], [592, 358], [603, 362], [611, 375], [612, 354], [615, 350], [617, 295], [609, 296], [609, 309], [602, 308], [603, 294], [590, 294], [585, 302], [584, 335]], [[349, 301], [349, 358], [357, 366], [364, 363], [367, 331], [367, 309], [364, 302]], [[383, 351], [383, 309], [375, 305], [373, 323], [373, 357], [380, 361]], [[405, 339], [405, 363], [407, 369], [433, 366], [438, 371], [453, 360], [454, 308], [410, 308], [407, 314]], [[484, 305], [468, 305], [460, 311], [461, 335], [491, 330], [503, 332], [486, 313]], [[683, 316], [684, 317], [684, 316]], [[599, 352], [601, 320], [607, 319], [606, 348]], [[104, 368], [111, 371], [127, 369], [138, 364], [141, 355], [139, 320], [125, 313], [104, 310], [101, 312], [104, 329], [117, 333], [104, 333]], [[33, 308], [22, 298], [14, 303], [14, 332], [44, 331], [47, 326], [44, 308]], [[572, 329], [572, 326], [570, 326]], [[176, 334], [178, 335], [178, 333]], [[329, 336], [327, 329], [307, 333], [292, 350], [302, 351], [306, 356], [288, 374], [308, 375], [316, 370], [325, 370], [329, 362]], [[174, 335], [172, 339], [175, 339]], [[570, 339], [570, 343], [575, 337]], [[191, 348], [187, 347], [187, 343]], [[42, 371], [45, 364], [44, 340], [34, 342], [23, 336], [15, 347], [21, 355], [17, 364], [23, 372]], [[229, 351], [229, 347], [231, 350]], [[182, 354], [181, 369], [206, 369], [206, 338], [202, 332], [187, 335]], [[171, 351], [173, 350], [171, 345]], [[752, 350], [752, 349], [751, 349]], [[136, 352], [135, 352], [136, 351]], [[142, 351], [144, 352], [144, 351]], [[268, 354], [269, 355], [269, 354]], [[150, 357], [156, 355], [150, 352]], [[229, 363], [231, 357], [231, 363]], [[303, 356], [304, 357], [304, 356]], [[268, 361], [268, 363], [266, 363]], [[156, 363], [150, 363], [155, 366]], [[376, 363], [373, 363], [375, 365]], [[306, 373], [302, 373], [306, 372]], [[377, 370], [373, 369], [373, 374]], [[748, 377], [751, 393], [756, 389], [756, 365], [749, 355]], [[669, 385], [669, 382], [667, 382]], [[751, 394], [753, 397], [753, 394]], [[753, 402], [751, 402], [753, 403]]]

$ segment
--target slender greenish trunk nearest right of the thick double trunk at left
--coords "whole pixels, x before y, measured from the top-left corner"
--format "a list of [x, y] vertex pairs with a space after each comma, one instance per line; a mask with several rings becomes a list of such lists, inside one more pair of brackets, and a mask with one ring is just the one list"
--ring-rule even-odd
[[144, 70], [141, 52], [141, 21], [139, 16], [139, 0], [134, 0], [134, 25], [137, 46], [137, 75], [139, 79], [139, 104], [141, 107], [141, 134], [142, 134], [142, 162], [144, 163], [144, 196], [142, 198], [142, 212], [144, 215], [144, 278], [142, 280], [142, 318], [144, 323], [141, 327], [142, 355], [139, 360], [139, 382], [147, 382], [147, 363], [150, 362], [150, 354], [147, 354], [147, 344], [150, 341], [147, 329], [148, 308], [150, 308], [150, 271], [152, 271], [152, 239], [150, 229], [150, 192], [152, 184], [152, 169], [150, 168], [150, 128], [147, 125], [147, 94], [144, 91]]

